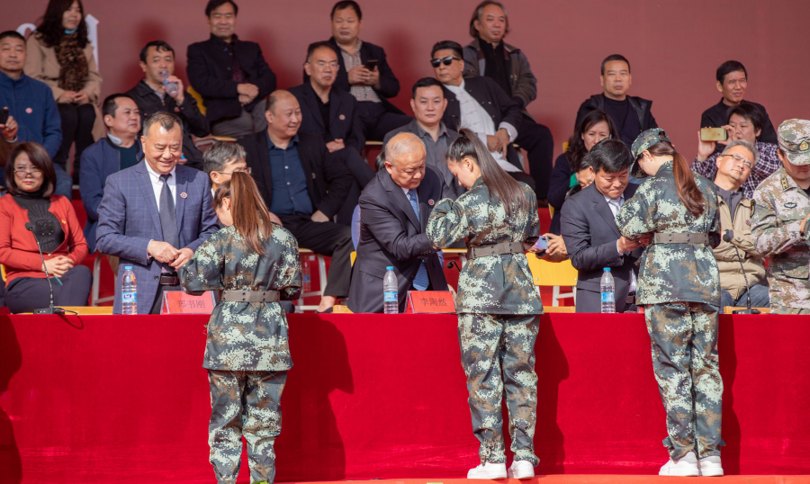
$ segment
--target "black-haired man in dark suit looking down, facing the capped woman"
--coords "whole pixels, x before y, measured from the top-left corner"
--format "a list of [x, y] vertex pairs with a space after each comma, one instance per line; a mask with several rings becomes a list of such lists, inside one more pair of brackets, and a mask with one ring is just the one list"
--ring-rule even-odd
[[590, 149], [594, 180], [563, 204], [563, 241], [577, 277], [577, 312], [601, 312], [599, 282], [610, 267], [616, 284], [616, 312], [624, 312], [628, 295], [635, 293], [635, 261], [644, 251], [643, 239], [622, 237], [616, 214], [635, 194], [630, 184], [633, 157], [619, 139], [604, 139]]

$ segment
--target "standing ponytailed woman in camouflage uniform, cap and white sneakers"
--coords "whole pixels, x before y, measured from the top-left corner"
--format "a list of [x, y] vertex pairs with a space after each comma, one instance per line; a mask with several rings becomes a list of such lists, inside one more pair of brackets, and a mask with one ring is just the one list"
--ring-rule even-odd
[[723, 475], [715, 185], [693, 177], [663, 130], [644, 131], [631, 151], [636, 160], [631, 175], [653, 177], [622, 205], [616, 223], [626, 238], [650, 236], [639, 259], [635, 297], [645, 307], [653, 370], [667, 412], [663, 444], [671, 460], [660, 474]]

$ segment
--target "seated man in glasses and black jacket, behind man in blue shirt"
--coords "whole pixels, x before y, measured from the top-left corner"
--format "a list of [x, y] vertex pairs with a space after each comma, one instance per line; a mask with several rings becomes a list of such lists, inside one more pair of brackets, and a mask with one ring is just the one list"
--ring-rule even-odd
[[365, 137], [355, 96], [332, 88], [340, 71], [338, 57], [338, 49], [329, 42], [311, 44], [304, 63], [309, 81], [296, 85], [290, 92], [301, 105], [299, 132], [321, 136], [329, 152], [355, 177], [347, 202], [338, 212], [338, 222], [348, 224], [360, 192], [374, 178], [374, 170], [360, 155], [365, 148]]

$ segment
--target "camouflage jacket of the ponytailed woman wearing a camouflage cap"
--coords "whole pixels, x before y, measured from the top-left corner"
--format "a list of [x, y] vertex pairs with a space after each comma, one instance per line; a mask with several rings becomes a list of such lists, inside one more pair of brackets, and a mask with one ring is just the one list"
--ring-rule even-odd
[[[695, 175], [706, 210], [695, 218], [678, 198], [672, 162], [644, 182], [616, 217], [626, 238], [646, 233], [706, 234], [720, 229], [715, 184]], [[650, 244], [639, 258], [636, 304], [705, 302], [720, 306], [720, 275], [712, 247]]]

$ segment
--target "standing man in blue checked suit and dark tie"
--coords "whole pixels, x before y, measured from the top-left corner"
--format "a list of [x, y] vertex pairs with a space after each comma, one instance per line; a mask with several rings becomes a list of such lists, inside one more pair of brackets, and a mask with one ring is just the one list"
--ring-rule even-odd
[[[208, 177], [178, 165], [183, 121], [156, 112], [143, 121], [143, 161], [107, 177], [95, 246], [122, 259], [138, 280], [138, 314], [159, 314], [165, 291], [180, 291], [177, 269], [217, 231]], [[114, 314], [121, 314], [115, 284]]]

